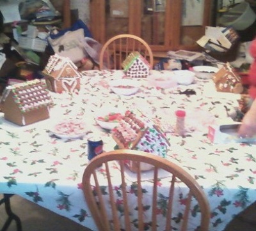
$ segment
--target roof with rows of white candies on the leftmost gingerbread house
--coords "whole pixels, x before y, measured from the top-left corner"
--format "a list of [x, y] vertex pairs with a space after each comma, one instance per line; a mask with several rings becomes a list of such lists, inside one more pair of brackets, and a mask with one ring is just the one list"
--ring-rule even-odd
[[52, 105], [52, 98], [45, 83], [38, 79], [6, 87], [1, 101], [4, 103], [8, 96], [13, 97], [22, 113]]

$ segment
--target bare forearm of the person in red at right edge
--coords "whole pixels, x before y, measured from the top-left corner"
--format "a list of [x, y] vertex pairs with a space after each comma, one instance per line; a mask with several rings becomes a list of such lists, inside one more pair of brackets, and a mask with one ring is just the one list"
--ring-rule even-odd
[[253, 137], [253, 135], [256, 135], [256, 100], [253, 101], [250, 110], [244, 115], [238, 133], [241, 137]]

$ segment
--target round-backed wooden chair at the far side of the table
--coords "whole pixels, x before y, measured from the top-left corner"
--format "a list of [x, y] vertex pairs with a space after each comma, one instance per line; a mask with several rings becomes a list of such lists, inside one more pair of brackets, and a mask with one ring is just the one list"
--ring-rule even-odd
[[132, 52], [138, 51], [153, 68], [153, 54], [148, 43], [133, 34], [119, 34], [103, 45], [99, 56], [100, 70], [122, 70], [122, 62]]

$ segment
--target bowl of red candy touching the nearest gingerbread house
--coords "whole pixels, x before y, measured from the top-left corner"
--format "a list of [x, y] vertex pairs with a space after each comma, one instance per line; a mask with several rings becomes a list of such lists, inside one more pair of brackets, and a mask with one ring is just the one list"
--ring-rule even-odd
[[102, 108], [95, 113], [94, 119], [101, 128], [112, 130], [118, 126], [123, 115], [122, 110], [118, 108]]

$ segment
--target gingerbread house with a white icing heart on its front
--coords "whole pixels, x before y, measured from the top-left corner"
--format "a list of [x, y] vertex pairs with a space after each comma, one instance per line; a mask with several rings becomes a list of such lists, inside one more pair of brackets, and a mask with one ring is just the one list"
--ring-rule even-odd
[[73, 93], [80, 90], [81, 73], [77, 71], [77, 66], [68, 57], [54, 54], [49, 58], [43, 73], [50, 91]]

